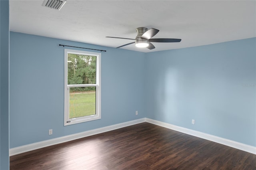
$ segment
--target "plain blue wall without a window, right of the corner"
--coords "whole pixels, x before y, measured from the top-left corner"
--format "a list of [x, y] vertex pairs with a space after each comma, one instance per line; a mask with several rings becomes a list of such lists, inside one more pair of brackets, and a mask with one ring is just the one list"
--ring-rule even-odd
[[256, 38], [147, 53], [146, 92], [150, 119], [256, 146]]

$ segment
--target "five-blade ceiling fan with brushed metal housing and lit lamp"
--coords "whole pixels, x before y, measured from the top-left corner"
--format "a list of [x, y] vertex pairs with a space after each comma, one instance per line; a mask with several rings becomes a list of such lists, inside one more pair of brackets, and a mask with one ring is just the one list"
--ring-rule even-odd
[[156, 47], [151, 42], [180, 42], [181, 41], [181, 39], [174, 39], [174, 38], [152, 38], [159, 32], [159, 30], [155, 28], [150, 28], [148, 30], [148, 28], [139, 27], [136, 29], [136, 31], [137, 31], [137, 36], [135, 37], [135, 39], [120, 38], [120, 37], [106, 37], [106, 38], [120, 38], [120, 39], [126, 39], [126, 40], [135, 40], [134, 42], [127, 43], [116, 48], [124, 47], [126, 45], [135, 43], [136, 47], [147, 47], [148, 49], [154, 49]]

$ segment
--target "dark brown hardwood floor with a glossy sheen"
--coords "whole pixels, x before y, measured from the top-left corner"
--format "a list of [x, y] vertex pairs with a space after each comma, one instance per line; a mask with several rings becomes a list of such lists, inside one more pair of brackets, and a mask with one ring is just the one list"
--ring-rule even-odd
[[256, 170], [256, 155], [140, 123], [10, 156], [10, 170]]

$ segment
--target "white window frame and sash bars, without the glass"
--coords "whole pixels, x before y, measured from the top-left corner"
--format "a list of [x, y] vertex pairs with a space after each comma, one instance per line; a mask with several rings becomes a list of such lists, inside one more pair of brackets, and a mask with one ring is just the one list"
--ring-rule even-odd
[[[101, 119], [101, 53], [95, 53], [90, 51], [80, 51], [73, 49], [64, 49], [64, 126], [74, 125], [77, 123], [83, 123], [88, 121], [94, 121]], [[83, 85], [68, 85], [68, 53], [80, 54], [80, 55], [93, 55], [96, 56], [96, 84], [83, 84]], [[70, 87], [96, 87], [96, 114], [84, 117], [69, 118], [69, 88]]]

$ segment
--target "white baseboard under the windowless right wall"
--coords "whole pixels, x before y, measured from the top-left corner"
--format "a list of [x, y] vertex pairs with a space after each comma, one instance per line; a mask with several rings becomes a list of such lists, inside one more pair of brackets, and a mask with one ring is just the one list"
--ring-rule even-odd
[[216, 143], [219, 143], [219, 144], [224, 144], [226, 146], [230, 146], [232, 148], [236, 148], [236, 149], [239, 149], [239, 150], [250, 152], [252, 154], [256, 154], [256, 147], [254, 147], [254, 146], [239, 143], [239, 142], [236, 142], [236, 141], [233, 141], [233, 140], [228, 140], [228, 139], [225, 139], [225, 138], [220, 138], [218, 136], [214, 136], [214, 135], [211, 135], [211, 134], [198, 132], [196, 130], [191, 130], [191, 129], [188, 129], [188, 128], [183, 128], [183, 127], [179, 127], [179, 126], [176, 126], [176, 125], [171, 125], [171, 124], [168, 124], [168, 123], [156, 121], [156, 120], [153, 120], [153, 119], [146, 118], [146, 122], [152, 123], [154, 125], [158, 125], [158, 126], [161, 126], [161, 127], [169, 128], [169, 129], [172, 129], [172, 130], [176, 130], [178, 132], [186, 133], [186, 134], [189, 134], [189, 135], [192, 135], [192, 136], [196, 136], [196, 137], [199, 137], [199, 138], [203, 138], [203, 139], [206, 139], [206, 140], [210, 140], [212, 142], [216, 142]]

